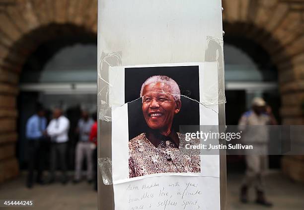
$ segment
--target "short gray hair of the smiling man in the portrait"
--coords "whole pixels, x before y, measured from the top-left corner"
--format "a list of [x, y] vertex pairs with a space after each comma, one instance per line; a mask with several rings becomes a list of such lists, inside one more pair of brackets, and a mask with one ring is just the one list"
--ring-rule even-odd
[[149, 85], [151, 83], [157, 83], [157, 82], [162, 82], [162, 83], [168, 85], [170, 88], [170, 93], [172, 94], [174, 100], [175, 101], [180, 100], [180, 90], [179, 90], [178, 84], [172, 78], [170, 78], [168, 76], [164, 76], [164, 75], [155, 75], [155, 76], [149, 77], [142, 85], [140, 96], [143, 97], [143, 91], [144, 91], [144, 87], [146, 85]]

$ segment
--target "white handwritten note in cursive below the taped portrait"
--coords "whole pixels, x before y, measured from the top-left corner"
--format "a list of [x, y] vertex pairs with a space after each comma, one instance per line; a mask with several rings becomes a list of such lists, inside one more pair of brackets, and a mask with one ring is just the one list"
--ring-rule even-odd
[[220, 209], [215, 177], [151, 177], [114, 185], [114, 195], [115, 210]]

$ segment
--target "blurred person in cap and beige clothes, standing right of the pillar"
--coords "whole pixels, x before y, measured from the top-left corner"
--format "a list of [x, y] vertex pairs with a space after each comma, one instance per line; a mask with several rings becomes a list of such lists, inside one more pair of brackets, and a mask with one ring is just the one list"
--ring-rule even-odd
[[277, 125], [277, 121], [263, 98], [255, 97], [252, 100], [252, 109], [245, 112], [238, 122], [238, 128], [243, 132], [243, 141], [254, 145], [255, 151], [260, 154], [248, 153], [245, 155], [246, 174], [242, 182], [240, 201], [248, 202], [248, 189], [254, 185], [256, 203], [271, 207], [272, 203], [265, 198], [264, 176], [268, 169], [268, 140], [269, 130], [266, 125]]

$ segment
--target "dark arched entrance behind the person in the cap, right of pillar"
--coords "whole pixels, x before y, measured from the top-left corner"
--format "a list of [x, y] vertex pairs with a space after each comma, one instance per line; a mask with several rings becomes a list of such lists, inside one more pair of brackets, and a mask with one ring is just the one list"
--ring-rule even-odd
[[[251, 101], [259, 96], [279, 115], [280, 95], [278, 71], [271, 63], [270, 56], [255, 43], [244, 38], [225, 38], [225, 91], [226, 125], [237, 125], [242, 113], [251, 108]], [[270, 155], [270, 167], [280, 167], [281, 156]], [[243, 158], [227, 156], [229, 170], [244, 169]]]

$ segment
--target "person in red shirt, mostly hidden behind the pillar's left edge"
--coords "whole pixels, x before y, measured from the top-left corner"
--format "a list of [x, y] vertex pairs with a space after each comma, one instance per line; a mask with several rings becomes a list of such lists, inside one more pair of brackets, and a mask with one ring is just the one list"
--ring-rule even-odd
[[94, 124], [92, 125], [89, 140], [95, 144], [95, 148], [93, 150], [93, 158], [94, 161], [94, 190], [97, 190], [97, 114], [94, 113], [92, 115], [94, 120]]

